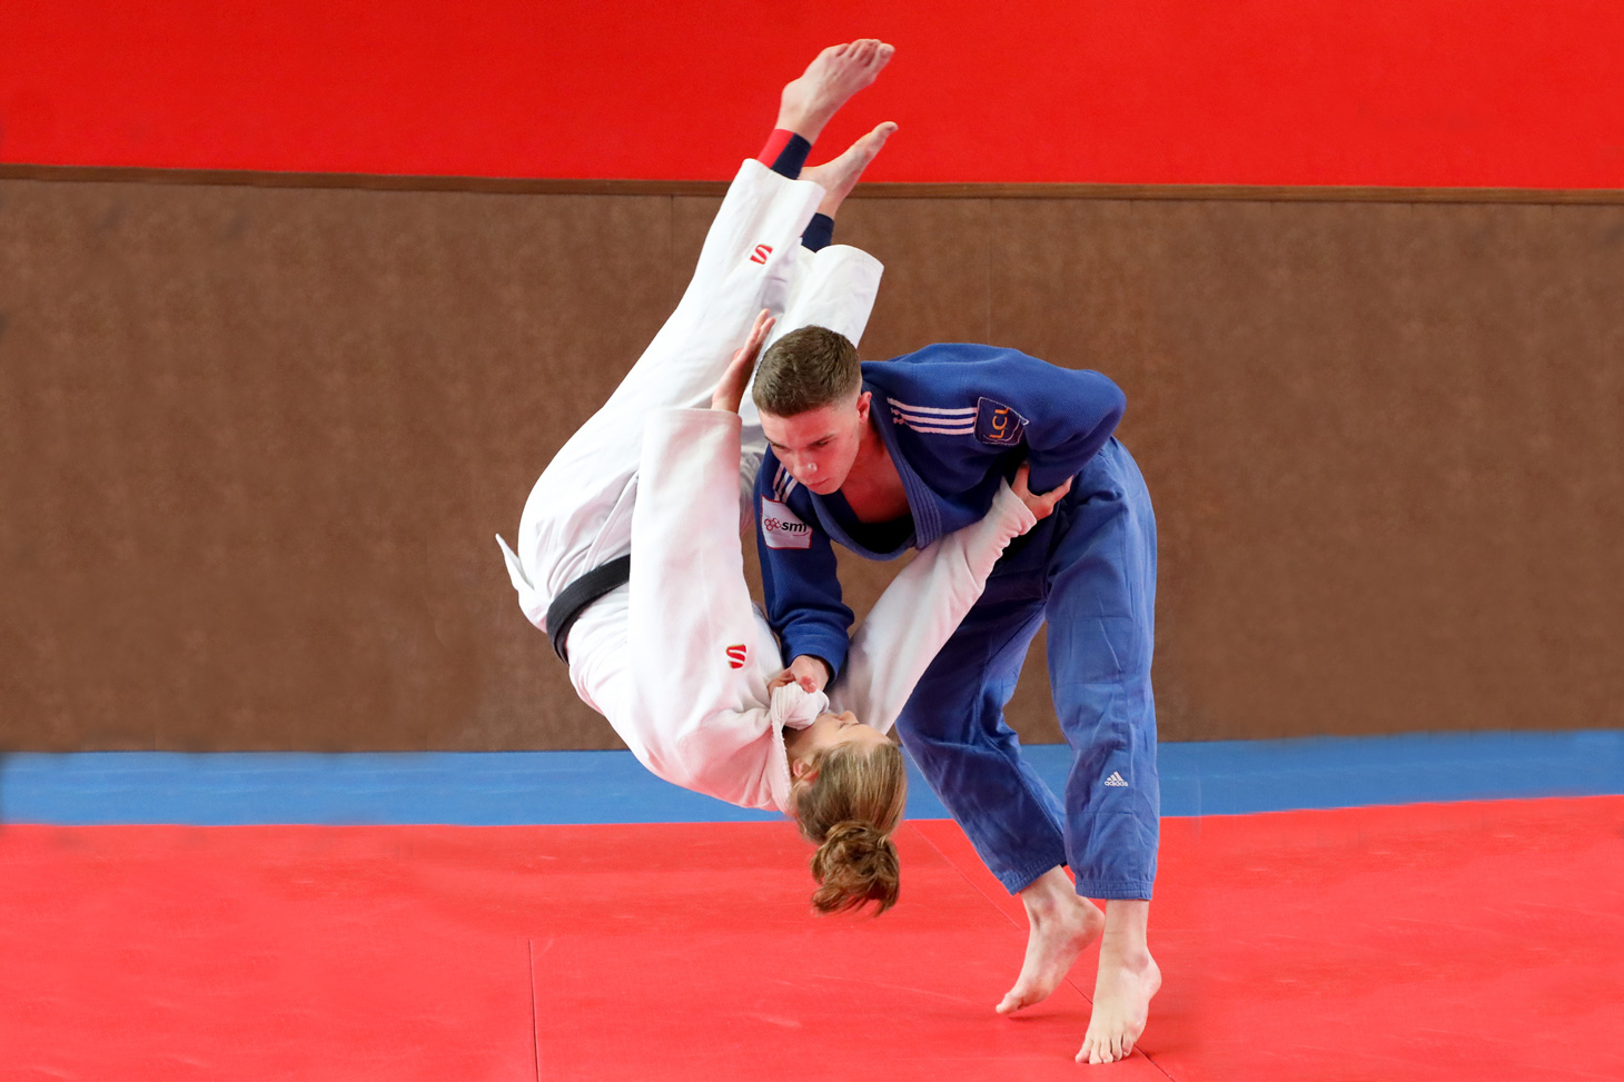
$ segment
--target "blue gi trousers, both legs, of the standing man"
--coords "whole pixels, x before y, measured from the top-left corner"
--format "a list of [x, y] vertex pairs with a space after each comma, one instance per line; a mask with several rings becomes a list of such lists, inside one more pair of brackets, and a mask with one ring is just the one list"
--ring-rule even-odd
[[[1054, 513], [1004, 554], [896, 720], [931, 788], [1010, 894], [1070, 864], [1083, 897], [1150, 898], [1161, 814], [1155, 606], [1150, 492], [1112, 439]], [[1072, 747], [1064, 809], [1004, 723], [1044, 621], [1054, 708]]]

